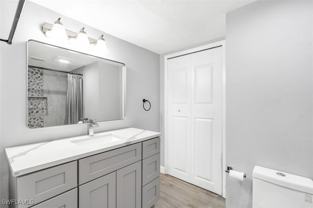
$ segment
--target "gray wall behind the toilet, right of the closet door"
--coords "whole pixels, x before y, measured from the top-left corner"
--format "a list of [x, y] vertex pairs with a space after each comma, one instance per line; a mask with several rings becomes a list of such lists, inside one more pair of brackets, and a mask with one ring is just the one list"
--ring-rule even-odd
[[312, 1], [256, 1], [226, 14], [227, 208], [252, 207], [255, 165], [313, 178]]

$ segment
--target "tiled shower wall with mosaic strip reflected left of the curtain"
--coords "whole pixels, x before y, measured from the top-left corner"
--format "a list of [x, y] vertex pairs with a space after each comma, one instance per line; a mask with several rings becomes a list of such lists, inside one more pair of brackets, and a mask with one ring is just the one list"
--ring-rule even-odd
[[67, 73], [28, 67], [28, 127], [64, 125]]

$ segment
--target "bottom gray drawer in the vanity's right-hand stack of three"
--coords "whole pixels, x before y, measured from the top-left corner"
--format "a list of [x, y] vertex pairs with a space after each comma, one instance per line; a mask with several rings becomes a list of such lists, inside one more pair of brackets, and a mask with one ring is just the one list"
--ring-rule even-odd
[[142, 207], [151, 208], [160, 198], [160, 177], [142, 187]]

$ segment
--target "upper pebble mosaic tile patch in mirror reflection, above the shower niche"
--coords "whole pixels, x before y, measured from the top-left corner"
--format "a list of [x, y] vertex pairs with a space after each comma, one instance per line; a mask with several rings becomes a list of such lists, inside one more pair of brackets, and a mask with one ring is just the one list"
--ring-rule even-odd
[[28, 66], [28, 96], [44, 96], [44, 72]]

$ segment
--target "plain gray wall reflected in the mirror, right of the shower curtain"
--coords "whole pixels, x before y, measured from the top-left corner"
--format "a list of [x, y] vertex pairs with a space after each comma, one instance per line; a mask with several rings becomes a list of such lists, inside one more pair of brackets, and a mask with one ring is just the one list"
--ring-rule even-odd
[[85, 67], [85, 116], [96, 121], [122, 117], [122, 68], [97, 61]]

